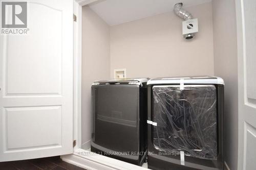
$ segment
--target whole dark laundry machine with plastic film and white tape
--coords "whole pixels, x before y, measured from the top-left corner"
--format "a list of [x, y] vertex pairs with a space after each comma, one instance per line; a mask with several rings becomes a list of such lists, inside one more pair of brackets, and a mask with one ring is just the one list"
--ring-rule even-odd
[[159, 78], [147, 86], [148, 168], [223, 169], [223, 80]]

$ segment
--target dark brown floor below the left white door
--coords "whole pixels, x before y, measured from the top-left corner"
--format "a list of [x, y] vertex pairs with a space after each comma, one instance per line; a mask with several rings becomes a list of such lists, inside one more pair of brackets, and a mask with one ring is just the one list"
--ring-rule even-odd
[[59, 156], [22, 161], [0, 162], [2, 170], [84, 170], [81, 167], [64, 162]]

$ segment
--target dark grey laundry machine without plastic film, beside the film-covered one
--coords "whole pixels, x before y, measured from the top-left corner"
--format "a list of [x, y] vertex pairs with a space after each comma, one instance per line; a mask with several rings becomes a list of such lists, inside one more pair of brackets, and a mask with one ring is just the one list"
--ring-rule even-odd
[[91, 151], [141, 165], [147, 151], [148, 78], [92, 85]]

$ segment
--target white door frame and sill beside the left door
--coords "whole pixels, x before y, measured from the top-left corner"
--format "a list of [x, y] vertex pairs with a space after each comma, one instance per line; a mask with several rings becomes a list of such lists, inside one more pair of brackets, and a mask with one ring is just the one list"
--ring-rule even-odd
[[98, 0], [74, 0], [74, 89], [73, 89], [73, 117], [74, 131], [73, 138], [76, 140], [73, 154], [61, 155], [61, 159], [68, 163], [86, 169], [127, 169], [146, 170], [147, 168], [131, 163], [120, 161], [114, 158], [93, 154], [90, 151], [81, 149], [81, 82], [82, 82], [82, 6]]

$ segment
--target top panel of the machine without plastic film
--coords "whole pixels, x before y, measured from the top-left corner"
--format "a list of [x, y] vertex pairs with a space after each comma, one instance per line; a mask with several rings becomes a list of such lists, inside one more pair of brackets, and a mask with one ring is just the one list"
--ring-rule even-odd
[[140, 84], [143, 82], [147, 82], [150, 80], [150, 78], [134, 78], [134, 79], [110, 79], [110, 80], [100, 80], [100, 81], [95, 81], [93, 85], [98, 85], [98, 84]]

